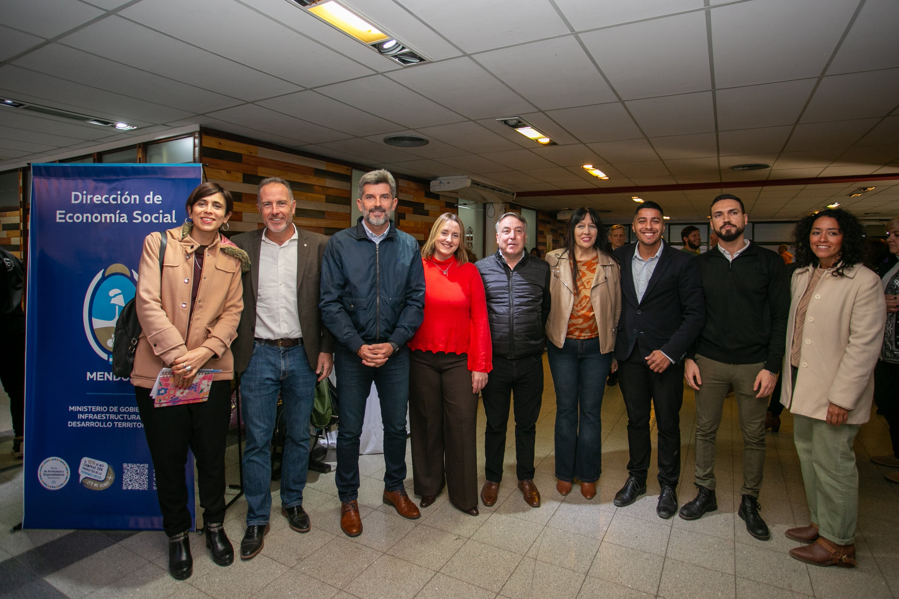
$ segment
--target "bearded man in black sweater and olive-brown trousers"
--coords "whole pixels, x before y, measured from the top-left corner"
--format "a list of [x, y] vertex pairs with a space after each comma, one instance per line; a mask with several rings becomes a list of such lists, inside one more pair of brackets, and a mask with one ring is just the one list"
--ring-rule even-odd
[[743, 237], [743, 201], [729, 193], [712, 200], [717, 247], [696, 261], [706, 299], [706, 326], [687, 359], [684, 377], [696, 390], [696, 498], [681, 518], [717, 509], [715, 440], [728, 387], [733, 386], [743, 430], [743, 496], [738, 515], [756, 539], [770, 539], [759, 515], [765, 464], [765, 412], [783, 360], [789, 279], [780, 256]]

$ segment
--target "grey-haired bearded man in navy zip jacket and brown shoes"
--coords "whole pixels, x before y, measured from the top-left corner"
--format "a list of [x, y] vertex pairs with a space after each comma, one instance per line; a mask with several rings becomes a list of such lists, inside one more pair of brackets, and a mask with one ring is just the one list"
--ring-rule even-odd
[[362, 533], [359, 514], [359, 437], [371, 383], [378, 389], [384, 425], [384, 503], [405, 518], [421, 516], [406, 495], [405, 414], [409, 348], [424, 318], [424, 269], [418, 242], [396, 229], [396, 181], [384, 170], [359, 181], [362, 216], [334, 233], [322, 260], [321, 311], [337, 340], [334, 368], [340, 392], [337, 494], [341, 529]]

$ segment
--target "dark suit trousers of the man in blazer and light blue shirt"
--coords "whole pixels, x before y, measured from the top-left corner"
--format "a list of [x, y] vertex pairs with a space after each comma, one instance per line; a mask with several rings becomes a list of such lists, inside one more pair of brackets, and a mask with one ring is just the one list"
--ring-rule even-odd
[[677, 487], [681, 478], [681, 404], [683, 363], [654, 373], [634, 345], [627, 360], [619, 363], [621, 394], [628, 409], [628, 471], [645, 482], [653, 444], [649, 436], [651, 408], [658, 430], [659, 484]]

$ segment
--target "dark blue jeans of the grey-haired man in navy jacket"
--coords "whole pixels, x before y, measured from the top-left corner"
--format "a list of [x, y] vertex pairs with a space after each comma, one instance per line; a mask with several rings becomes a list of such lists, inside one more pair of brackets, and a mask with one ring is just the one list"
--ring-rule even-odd
[[371, 383], [378, 389], [384, 424], [384, 490], [403, 489], [405, 480], [405, 413], [409, 405], [409, 348], [403, 346], [384, 366], [363, 366], [362, 358], [337, 344], [337, 495], [341, 501], [359, 496], [359, 436]]

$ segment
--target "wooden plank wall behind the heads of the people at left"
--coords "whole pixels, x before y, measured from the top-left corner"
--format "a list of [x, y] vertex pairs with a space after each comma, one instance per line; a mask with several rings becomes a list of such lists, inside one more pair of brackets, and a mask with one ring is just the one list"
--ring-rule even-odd
[[[352, 168], [208, 134], [202, 136], [200, 162], [209, 181], [232, 193], [235, 214], [231, 231], [262, 228], [256, 207], [256, 186], [266, 177], [290, 182], [297, 200], [293, 222], [298, 227], [332, 235], [350, 226], [350, 203], [355, 201]], [[443, 212], [458, 213], [455, 199], [438, 196], [417, 181], [398, 178], [396, 226], [419, 240], [427, 239], [431, 224]]]

